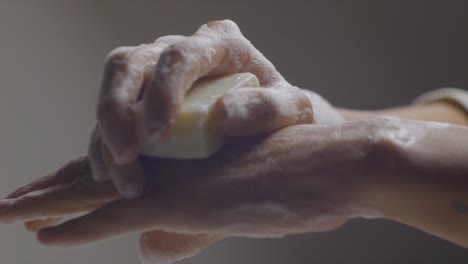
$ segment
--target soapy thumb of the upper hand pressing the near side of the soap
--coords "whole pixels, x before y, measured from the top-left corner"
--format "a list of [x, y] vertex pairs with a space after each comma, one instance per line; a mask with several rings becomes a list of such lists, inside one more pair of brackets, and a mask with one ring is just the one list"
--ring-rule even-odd
[[295, 87], [246, 88], [225, 94], [213, 109], [217, 128], [228, 136], [251, 136], [314, 121], [308, 96]]

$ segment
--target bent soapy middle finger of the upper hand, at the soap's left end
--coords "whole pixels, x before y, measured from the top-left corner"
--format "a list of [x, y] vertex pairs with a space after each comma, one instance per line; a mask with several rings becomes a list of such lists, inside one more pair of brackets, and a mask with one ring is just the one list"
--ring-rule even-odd
[[120, 47], [107, 56], [97, 116], [116, 163], [125, 164], [136, 158], [134, 103], [141, 96], [142, 86], [149, 78], [147, 73], [153, 72], [162, 49], [182, 38], [167, 36], [152, 44]]

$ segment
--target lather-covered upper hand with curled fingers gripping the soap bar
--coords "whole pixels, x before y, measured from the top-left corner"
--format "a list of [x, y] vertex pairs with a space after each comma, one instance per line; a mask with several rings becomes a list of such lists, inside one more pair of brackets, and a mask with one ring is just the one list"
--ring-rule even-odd
[[110, 177], [125, 197], [140, 195], [145, 178], [137, 159], [136, 103], [143, 103], [146, 128], [158, 137], [170, 131], [195, 81], [236, 72], [255, 74], [268, 89], [220, 98], [214, 112], [222, 133], [249, 136], [314, 121], [307, 95], [290, 85], [234, 22], [210, 22], [189, 37], [164, 36], [108, 55], [88, 152], [93, 178]]

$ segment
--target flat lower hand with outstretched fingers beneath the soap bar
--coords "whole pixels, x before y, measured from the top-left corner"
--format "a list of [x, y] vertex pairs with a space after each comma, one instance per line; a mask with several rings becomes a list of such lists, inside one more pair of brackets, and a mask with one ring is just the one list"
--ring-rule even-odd
[[[0, 219], [55, 217], [100, 207], [41, 230], [39, 238], [46, 244], [77, 245], [156, 229], [140, 241], [142, 252], [153, 257], [167, 253], [161, 247], [194, 254], [225, 236], [329, 230], [352, 217], [379, 215], [370, 194], [392, 171], [385, 157], [393, 153], [390, 132], [400, 129], [385, 119], [301, 125], [232, 142], [206, 160], [145, 157], [143, 168], [154, 190], [133, 200], [114, 196], [110, 183], [89, 180], [89, 165], [82, 159], [62, 169], [62, 175], [12, 195], [19, 198], [2, 201]], [[34, 223], [29, 223], [31, 229]], [[201, 233], [214, 235], [197, 235]], [[161, 243], [162, 236], [171, 242]]]

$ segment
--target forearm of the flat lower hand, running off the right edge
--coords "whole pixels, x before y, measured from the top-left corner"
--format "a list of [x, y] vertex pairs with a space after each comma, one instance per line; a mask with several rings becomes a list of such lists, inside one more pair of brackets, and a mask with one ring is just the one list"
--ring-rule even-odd
[[402, 125], [410, 141], [389, 151], [397, 165], [377, 184], [375, 208], [385, 218], [468, 247], [468, 128], [416, 127]]

